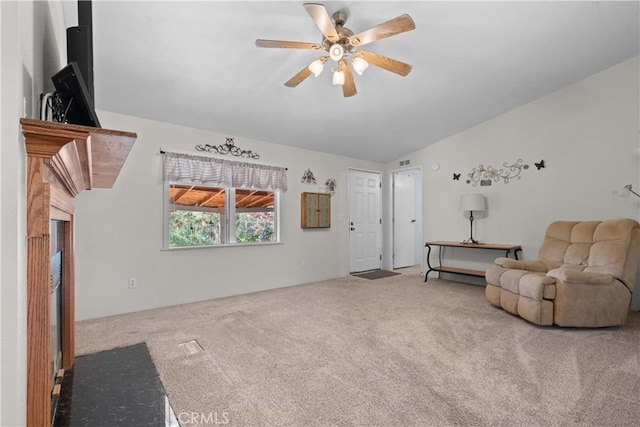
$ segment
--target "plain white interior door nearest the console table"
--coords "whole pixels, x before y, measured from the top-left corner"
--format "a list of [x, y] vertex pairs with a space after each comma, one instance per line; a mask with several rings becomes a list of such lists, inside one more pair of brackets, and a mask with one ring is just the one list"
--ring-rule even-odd
[[414, 171], [393, 174], [393, 268], [416, 265], [415, 193]]

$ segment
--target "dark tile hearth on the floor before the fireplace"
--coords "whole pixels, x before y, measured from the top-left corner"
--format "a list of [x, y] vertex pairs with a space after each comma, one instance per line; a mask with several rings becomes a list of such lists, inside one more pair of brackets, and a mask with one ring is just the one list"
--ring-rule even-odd
[[77, 357], [65, 373], [53, 425], [171, 425], [166, 407], [156, 367], [140, 343]]

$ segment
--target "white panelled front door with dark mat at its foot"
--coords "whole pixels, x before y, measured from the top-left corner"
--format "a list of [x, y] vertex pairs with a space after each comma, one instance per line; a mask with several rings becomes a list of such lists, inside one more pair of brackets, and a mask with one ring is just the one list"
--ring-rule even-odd
[[382, 265], [380, 174], [349, 170], [349, 271]]

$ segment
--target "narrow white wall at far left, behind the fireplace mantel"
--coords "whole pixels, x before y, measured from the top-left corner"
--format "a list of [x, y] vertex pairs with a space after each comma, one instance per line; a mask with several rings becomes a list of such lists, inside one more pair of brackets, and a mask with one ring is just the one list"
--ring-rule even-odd
[[27, 362], [26, 156], [19, 119], [39, 117], [40, 93], [51, 89], [49, 76], [62, 64], [61, 3], [2, 1], [0, 27], [0, 425], [18, 426], [26, 423]]

